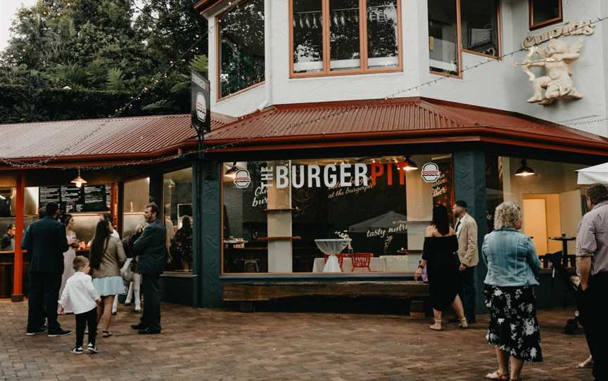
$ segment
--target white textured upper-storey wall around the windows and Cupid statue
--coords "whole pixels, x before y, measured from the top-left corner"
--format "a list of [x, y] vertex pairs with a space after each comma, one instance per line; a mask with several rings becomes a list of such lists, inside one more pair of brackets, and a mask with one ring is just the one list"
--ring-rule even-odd
[[[563, 0], [564, 21], [580, 22], [608, 15], [605, 0]], [[401, 0], [403, 44], [403, 72], [388, 74], [348, 75], [289, 79], [289, 0], [272, 0], [272, 36], [267, 37], [272, 54], [267, 65], [272, 65], [273, 103], [309, 103], [384, 98], [408, 89], [429, 79], [443, 78], [429, 73], [428, 15], [426, 1]], [[528, 0], [502, 0], [502, 52], [509, 53], [521, 47], [528, 30]], [[502, 60], [490, 60], [481, 67], [467, 70], [462, 79], [449, 79], [419, 91], [400, 93], [399, 96], [426, 96], [521, 112], [552, 122], [571, 124], [572, 127], [608, 136], [608, 122], [581, 124], [587, 120], [604, 119], [608, 115], [608, 25], [600, 22], [590, 36], [562, 37], [571, 44], [578, 38], [585, 40], [581, 58], [574, 64], [573, 79], [576, 89], [585, 96], [579, 101], [559, 101], [542, 106], [526, 102], [531, 96], [531, 84], [521, 68], [514, 62], [524, 60], [525, 52]], [[215, 73], [215, 18], [210, 18], [210, 73]], [[534, 34], [545, 29], [535, 30]], [[463, 68], [485, 62], [486, 58], [462, 53]], [[541, 71], [536, 70], [538, 75]], [[258, 86], [236, 96], [216, 102], [217, 83], [212, 81], [212, 108], [232, 116], [255, 111], [265, 100], [265, 86]], [[598, 86], [598, 84], [601, 84]], [[574, 123], [574, 124], [573, 124]]]

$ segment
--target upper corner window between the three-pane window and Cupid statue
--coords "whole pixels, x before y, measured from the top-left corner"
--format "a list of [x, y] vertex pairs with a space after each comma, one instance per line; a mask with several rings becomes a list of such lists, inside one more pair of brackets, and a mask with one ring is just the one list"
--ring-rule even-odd
[[460, 77], [461, 51], [500, 57], [498, 0], [428, 0], [431, 72]]

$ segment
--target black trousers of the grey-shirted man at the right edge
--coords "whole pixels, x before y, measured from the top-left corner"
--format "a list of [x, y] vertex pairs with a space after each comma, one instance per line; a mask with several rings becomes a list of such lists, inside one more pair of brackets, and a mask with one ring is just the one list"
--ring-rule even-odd
[[589, 287], [581, 292], [579, 306], [585, 338], [593, 356], [593, 377], [608, 380], [608, 329], [605, 304], [608, 294], [608, 272], [598, 273], [589, 280]]

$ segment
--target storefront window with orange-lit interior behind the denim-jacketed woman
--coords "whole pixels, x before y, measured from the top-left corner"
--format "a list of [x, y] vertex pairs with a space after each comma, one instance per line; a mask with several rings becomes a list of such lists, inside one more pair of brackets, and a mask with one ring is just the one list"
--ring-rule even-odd
[[[500, 202], [515, 202], [524, 214], [524, 234], [532, 237], [539, 256], [562, 251], [562, 241], [552, 238], [576, 237], [585, 210], [584, 193], [577, 185], [577, 169], [584, 165], [492, 157], [486, 159], [486, 219], [493, 228], [494, 209]], [[525, 170], [524, 170], [525, 169]], [[530, 171], [531, 169], [531, 171]], [[521, 175], [527, 176], [521, 176]], [[574, 240], [566, 241], [574, 254]], [[543, 266], [549, 266], [543, 261]], [[568, 262], [574, 266], [574, 257]]]

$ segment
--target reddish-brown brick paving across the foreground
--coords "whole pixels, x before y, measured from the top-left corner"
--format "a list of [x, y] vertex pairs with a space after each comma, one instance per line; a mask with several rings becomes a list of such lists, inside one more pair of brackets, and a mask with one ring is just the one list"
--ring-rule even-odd
[[[163, 334], [137, 335], [137, 316], [119, 306], [99, 354], [72, 355], [68, 337], [25, 336], [26, 303], [0, 302], [0, 380], [483, 380], [495, 370], [487, 316], [443, 332], [429, 318], [192, 309], [163, 304]], [[524, 380], [590, 380], [576, 369], [583, 335], [564, 335], [570, 310], [539, 314], [545, 362]], [[74, 329], [73, 316], [61, 316]], [[86, 337], [85, 337], [86, 342]]]

